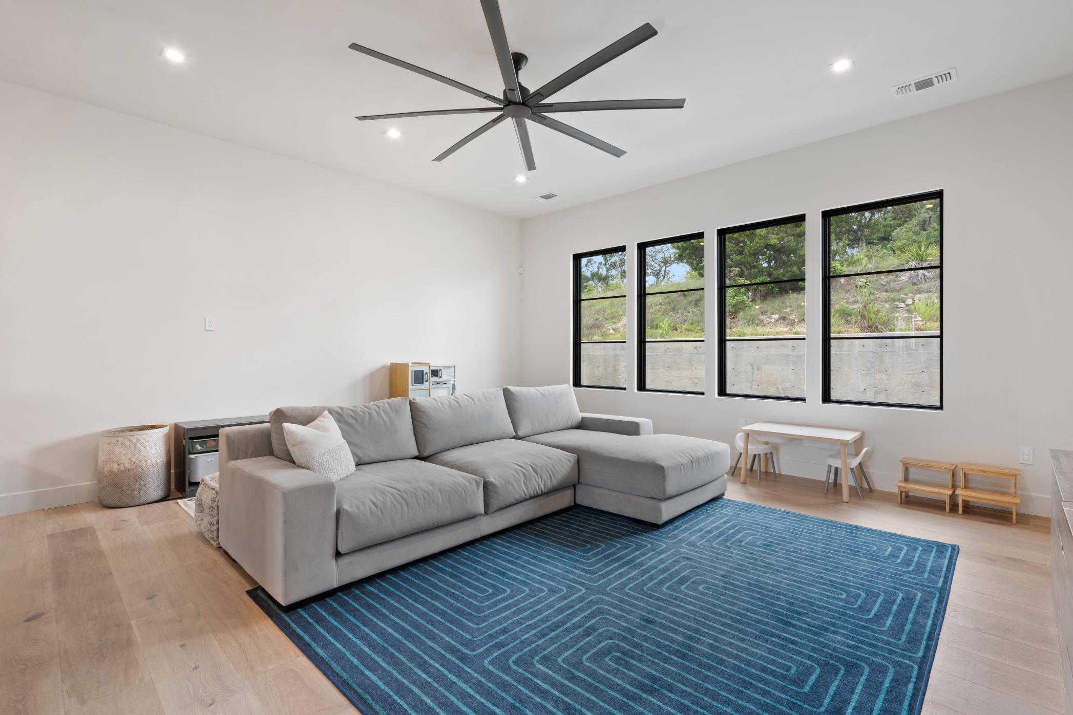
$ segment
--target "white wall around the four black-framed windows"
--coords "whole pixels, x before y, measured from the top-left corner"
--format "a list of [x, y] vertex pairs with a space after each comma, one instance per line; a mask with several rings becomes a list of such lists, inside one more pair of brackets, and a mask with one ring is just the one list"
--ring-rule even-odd
[[[570, 381], [571, 254], [626, 243], [632, 271], [637, 241], [704, 230], [714, 281], [715, 229], [805, 212], [807, 402], [715, 397], [708, 291], [707, 396], [635, 392], [631, 362], [628, 391], [578, 389], [582, 409], [727, 443], [738, 419], [861, 428], [874, 448], [870, 474], [887, 490], [901, 457], [1016, 465], [1018, 445], [1030, 445], [1021, 506], [1048, 513], [1046, 448], [1073, 448], [1070, 117], [1073, 77], [1064, 77], [525, 220], [524, 379]], [[945, 411], [822, 404], [821, 211], [930, 189], [945, 191]], [[635, 301], [628, 306], [633, 361]], [[823, 451], [780, 450], [787, 472], [823, 477]]]

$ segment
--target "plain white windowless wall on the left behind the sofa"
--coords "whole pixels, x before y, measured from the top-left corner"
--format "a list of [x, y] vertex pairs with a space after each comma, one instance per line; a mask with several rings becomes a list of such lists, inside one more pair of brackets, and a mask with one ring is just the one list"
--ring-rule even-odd
[[[518, 222], [0, 83], [0, 513], [99, 430], [517, 382]], [[203, 317], [216, 316], [215, 332]]]

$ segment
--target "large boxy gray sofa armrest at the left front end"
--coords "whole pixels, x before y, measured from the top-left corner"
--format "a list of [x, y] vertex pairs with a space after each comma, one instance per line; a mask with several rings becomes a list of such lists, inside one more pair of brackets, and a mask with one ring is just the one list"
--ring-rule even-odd
[[221, 459], [220, 546], [283, 606], [336, 587], [335, 482], [276, 457]]

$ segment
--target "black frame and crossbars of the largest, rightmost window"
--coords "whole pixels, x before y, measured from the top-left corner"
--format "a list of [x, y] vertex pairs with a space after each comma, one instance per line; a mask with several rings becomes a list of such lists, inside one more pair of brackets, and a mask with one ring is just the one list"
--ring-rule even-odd
[[[847, 213], [853, 213], [855, 211], [868, 211], [871, 209], [886, 208], [888, 206], [900, 206], [902, 204], [917, 204], [920, 202], [935, 199], [939, 202], [939, 264], [936, 266], [921, 266], [917, 268], [894, 268], [888, 270], [874, 270], [874, 271], [862, 271], [858, 273], [838, 273], [837, 275], [831, 274], [831, 218], [837, 215], [843, 215]], [[866, 202], [864, 204], [854, 204], [853, 206], [842, 206], [834, 209], [826, 209], [823, 212], [823, 402], [824, 404], [846, 404], [846, 405], [863, 405], [867, 407], [900, 407], [902, 409], [930, 409], [932, 412], [942, 412], [943, 404], [945, 402], [945, 389], [943, 386], [943, 373], [944, 362], [943, 362], [943, 279], [942, 269], [943, 264], [946, 260], [945, 253], [943, 252], [943, 211], [945, 210], [945, 202], [943, 200], [943, 190], [937, 189], [935, 191], [925, 191], [918, 194], [909, 194], [907, 196], [897, 196], [895, 198], [884, 198], [876, 202]], [[938, 338], [920, 338], [917, 336], [899, 336], [897, 332], [883, 333], [882, 336], [862, 338], [857, 337], [839, 337], [831, 334], [831, 279], [835, 278], [847, 278], [847, 277], [857, 277], [857, 275], [876, 275], [879, 273], [903, 273], [916, 270], [938, 270], [939, 271], [939, 337]], [[861, 400], [833, 400], [831, 399], [831, 341], [832, 340], [938, 340], [939, 341], [939, 404], [938, 405], [924, 405], [924, 404], [906, 404], [901, 402], [868, 402]]]

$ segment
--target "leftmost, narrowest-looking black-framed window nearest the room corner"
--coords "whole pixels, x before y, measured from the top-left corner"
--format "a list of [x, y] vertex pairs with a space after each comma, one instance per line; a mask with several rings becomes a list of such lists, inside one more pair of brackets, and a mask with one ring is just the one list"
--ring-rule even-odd
[[574, 387], [626, 389], [626, 247], [574, 255]]

